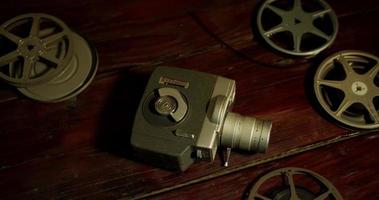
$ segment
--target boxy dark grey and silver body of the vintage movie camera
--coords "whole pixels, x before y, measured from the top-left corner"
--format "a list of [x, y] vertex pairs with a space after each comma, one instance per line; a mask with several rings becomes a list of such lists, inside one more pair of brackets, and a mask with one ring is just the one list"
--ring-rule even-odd
[[[238, 120], [225, 126], [235, 90], [235, 81], [221, 76], [156, 68], [133, 124], [131, 145], [135, 155], [159, 167], [184, 171], [196, 159], [213, 161], [220, 145], [243, 146], [243, 137], [238, 137], [235, 129], [249, 127], [240, 126]], [[236, 116], [230, 116], [229, 121], [234, 122]], [[271, 122], [267, 128], [271, 129]], [[230, 129], [229, 133], [222, 134], [223, 129]], [[268, 137], [264, 140], [267, 146]], [[254, 146], [251, 142], [251, 137], [245, 142], [247, 150]]]

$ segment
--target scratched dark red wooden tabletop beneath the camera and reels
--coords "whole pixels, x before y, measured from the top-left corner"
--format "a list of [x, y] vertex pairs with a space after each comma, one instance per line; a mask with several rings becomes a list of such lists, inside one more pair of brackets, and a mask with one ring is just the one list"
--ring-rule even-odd
[[[29, 12], [55, 15], [91, 40], [100, 59], [91, 86], [63, 103], [34, 102], [0, 83], [0, 197], [181, 199], [209, 186], [210, 193], [204, 198], [195, 197], [240, 199], [257, 175], [293, 165], [335, 181], [341, 192], [346, 192], [346, 199], [370, 199], [368, 194], [377, 197], [379, 183], [373, 180], [379, 179], [378, 158], [377, 150], [372, 151], [377, 139], [352, 135], [320, 117], [307, 95], [306, 74], [319, 60], [339, 50], [359, 49], [379, 55], [379, 3], [329, 1], [339, 17], [340, 31], [334, 45], [312, 59], [282, 56], [253, 36], [251, 19], [257, 3], [0, 2], [0, 22]], [[233, 153], [228, 168], [222, 167], [217, 157], [213, 163], [195, 163], [184, 173], [136, 161], [128, 146], [133, 112], [149, 73], [158, 65], [236, 80], [234, 111], [273, 120], [269, 151], [259, 155]], [[345, 139], [349, 141], [339, 142]], [[328, 144], [331, 146], [314, 150]], [[334, 147], [349, 148], [349, 152], [339, 158]], [[325, 158], [329, 151], [333, 162]], [[364, 161], [358, 155], [365, 152], [369, 153]], [[287, 158], [289, 155], [296, 156]], [[315, 160], [324, 162], [309, 164]], [[347, 177], [342, 179], [339, 166], [345, 162], [349, 165], [341, 171]], [[361, 176], [362, 168], [366, 171]], [[245, 178], [231, 187], [227, 180], [236, 177]], [[346, 180], [354, 183], [354, 188], [343, 183]], [[367, 182], [370, 184], [364, 184]]]

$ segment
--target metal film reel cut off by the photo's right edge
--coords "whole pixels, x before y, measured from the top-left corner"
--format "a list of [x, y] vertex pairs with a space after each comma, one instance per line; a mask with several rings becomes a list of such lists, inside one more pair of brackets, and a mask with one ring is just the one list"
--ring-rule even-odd
[[342, 51], [327, 58], [314, 76], [322, 109], [353, 129], [379, 128], [379, 58], [362, 51]]

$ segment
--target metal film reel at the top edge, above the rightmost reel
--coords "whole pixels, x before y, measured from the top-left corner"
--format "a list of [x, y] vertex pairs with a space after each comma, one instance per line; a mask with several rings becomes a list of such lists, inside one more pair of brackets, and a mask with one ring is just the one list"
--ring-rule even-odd
[[324, 0], [266, 0], [257, 27], [272, 48], [293, 56], [314, 56], [337, 36], [338, 20]]

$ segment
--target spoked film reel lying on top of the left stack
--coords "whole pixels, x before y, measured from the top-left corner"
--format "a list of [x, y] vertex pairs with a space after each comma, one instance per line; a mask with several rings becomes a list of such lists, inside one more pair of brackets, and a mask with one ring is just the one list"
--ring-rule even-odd
[[73, 51], [71, 31], [58, 18], [17, 16], [0, 27], [0, 78], [17, 87], [44, 83], [66, 68]]

